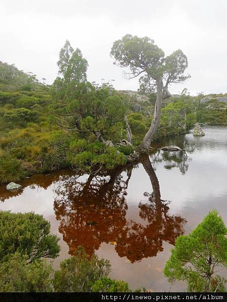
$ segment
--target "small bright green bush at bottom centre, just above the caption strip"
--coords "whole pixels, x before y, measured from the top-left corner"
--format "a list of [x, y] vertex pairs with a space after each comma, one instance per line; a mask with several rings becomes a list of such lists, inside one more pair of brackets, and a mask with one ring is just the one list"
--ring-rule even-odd
[[129, 292], [128, 283], [123, 280], [103, 277], [97, 280], [93, 287], [93, 292]]

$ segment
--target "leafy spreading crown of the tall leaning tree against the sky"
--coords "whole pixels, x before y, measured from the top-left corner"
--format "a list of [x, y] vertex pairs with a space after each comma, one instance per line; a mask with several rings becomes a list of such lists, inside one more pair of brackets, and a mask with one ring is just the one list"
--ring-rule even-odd
[[165, 57], [164, 51], [154, 40], [143, 37], [125, 35], [113, 43], [110, 52], [115, 64], [130, 69], [129, 78], [134, 78], [145, 72], [140, 79], [140, 91], [153, 93], [157, 79], [168, 79], [168, 84], [181, 83], [188, 79], [184, 75], [188, 60], [182, 50], [178, 49]]

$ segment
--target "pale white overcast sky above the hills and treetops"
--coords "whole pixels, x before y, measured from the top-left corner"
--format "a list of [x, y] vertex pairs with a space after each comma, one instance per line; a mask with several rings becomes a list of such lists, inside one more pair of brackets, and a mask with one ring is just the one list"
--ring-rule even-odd
[[66, 39], [88, 60], [88, 80], [114, 79], [118, 90], [137, 90], [113, 65], [110, 49], [125, 34], [148, 36], [168, 55], [182, 49], [190, 94], [227, 92], [226, 0], [1, 0], [0, 60], [52, 84]]

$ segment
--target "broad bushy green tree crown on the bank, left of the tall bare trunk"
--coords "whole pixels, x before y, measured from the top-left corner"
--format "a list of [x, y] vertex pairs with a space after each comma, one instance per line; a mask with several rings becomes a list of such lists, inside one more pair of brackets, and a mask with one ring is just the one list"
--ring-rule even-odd
[[62, 127], [76, 130], [89, 141], [100, 136], [120, 140], [126, 106], [120, 97], [110, 96], [107, 88], [71, 81], [66, 87], [55, 89], [53, 95], [56, 101], [52, 112]]

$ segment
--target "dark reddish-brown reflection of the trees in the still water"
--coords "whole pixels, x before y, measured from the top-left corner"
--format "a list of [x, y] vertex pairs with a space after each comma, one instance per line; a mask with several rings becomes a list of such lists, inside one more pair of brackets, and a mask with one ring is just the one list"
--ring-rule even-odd
[[[120, 257], [130, 262], [156, 256], [163, 241], [174, 244], [183, 234], [184, 218], [169, 215], [168, 202], [161, 199], [159, 181], [148, 157], [141, 161], [153, 187], [147, 203], [139, 203], [139, 216], [146, 225], [126, 219], [125, 195], [133, 166], [118, 168], [108, 177], [90, 175], [87, 181], [76, 176], [62, 177], [55, 188], [54, 210], [60, 220], [59, 232], [73, 255], [82, 245], [89, 255], [101, 243], [115, 245]], [[124, 180], [122, 172], [127, 172]]]

